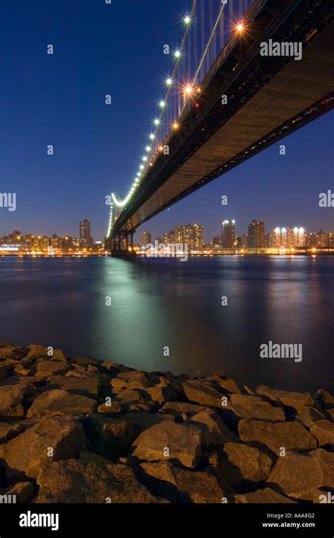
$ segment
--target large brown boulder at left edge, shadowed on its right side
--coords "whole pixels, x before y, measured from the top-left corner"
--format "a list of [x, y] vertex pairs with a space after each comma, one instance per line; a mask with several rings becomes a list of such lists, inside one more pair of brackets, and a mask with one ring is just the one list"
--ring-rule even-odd
[[[48, 456], [50, 448], [53, 456]], [[0, 458], [8, 467], [28, 478], [36, 478], [39, 470], [52, 461], [75, 458], [86, 451], [81, 424], [58, 418], [43, 419], [11, 441], [0, 445]]]

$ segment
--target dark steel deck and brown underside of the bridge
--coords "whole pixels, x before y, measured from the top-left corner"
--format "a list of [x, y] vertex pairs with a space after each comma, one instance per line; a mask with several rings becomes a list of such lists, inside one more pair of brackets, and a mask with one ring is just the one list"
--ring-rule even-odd
[[[268, 20], [261, 24], [266, 24], [261, 35], [278, 41], [298, 40], [301, 31], [299, 25], [298, 34], [293, 18], [280, 23], [276, 32]], [[171, 204], [333, 109], [333, 42], [334, 23], [327, 21], [304, 47], [301, 61], [263, 57], [259, 47], [256, 54], [254, 50], [245, 54], [245, 44], [235, 44], [233, 54], [203, 90], [214, 97], [211, 102], [201, 97], [202, 116], [198, 109], [187, 114], [183, 129], [170, 142], [171, 156], [156, 159], [113, 233], [134, 231]], [[228, 96], [227, 105], [221, 104], [222, 94]]]

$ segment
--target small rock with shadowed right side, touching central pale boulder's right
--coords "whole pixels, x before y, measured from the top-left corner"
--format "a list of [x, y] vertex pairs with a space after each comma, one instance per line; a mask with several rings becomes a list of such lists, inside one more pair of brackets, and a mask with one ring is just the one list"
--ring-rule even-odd
[[228, 441], [238, 440], [237, 436], [225, 426], [221, 417], [212, 409], [200, 411], [197, 415], [193, 415], [191, 420], [193, 423], [201, 424], [204, 427], [202, 443], [206, 449], [214, 448]]

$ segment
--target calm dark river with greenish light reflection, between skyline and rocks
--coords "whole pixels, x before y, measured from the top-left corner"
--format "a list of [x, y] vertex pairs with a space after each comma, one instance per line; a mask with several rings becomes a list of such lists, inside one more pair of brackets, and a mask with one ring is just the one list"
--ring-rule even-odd
[[[334, 257], [2, 257], [0, 338], [149, 371], [225, 369], [252, 387], [333, 389], [333, 274]], [[268, 341], [302, 343], [302, 362], [261, 359]]]

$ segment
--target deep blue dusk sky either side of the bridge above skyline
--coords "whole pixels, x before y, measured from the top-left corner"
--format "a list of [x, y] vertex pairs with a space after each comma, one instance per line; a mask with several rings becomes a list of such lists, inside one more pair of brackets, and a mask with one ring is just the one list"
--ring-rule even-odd
[[[0, 235], [78, 236], [79, 221], [106, 233], [105, 195], [128, 191], [147, 142], [156, 99], [180, 42], [191, 0], [3, 0], [0, 6], [0, 192], [16, 192], [16, 212], [0, 208]], [[54, 44], [54, 55], [47, 54]], [[111, 94], [112, 106], [104, 104]], [[333, 113], [195, 192], [144, 228], [162, 235], [198, 222], [204, 238], [236, 219], [334, 229], [318, 194], [333, 185]], [[54, 144], [54, 156], [47, 145]], [[221, 195], [228, 195], [228, 207]], [[139, 240], [139, 234], [137, 234]]]

